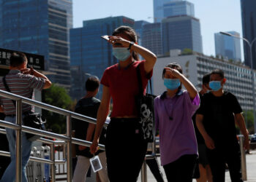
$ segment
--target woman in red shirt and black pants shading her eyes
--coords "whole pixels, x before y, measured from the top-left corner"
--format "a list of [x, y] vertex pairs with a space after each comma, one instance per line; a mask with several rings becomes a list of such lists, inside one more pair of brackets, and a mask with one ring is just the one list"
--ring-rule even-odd
[[[108, 67], [102, 76], [102, 101], [97, 114], [91, 153], [97, 151], [99, 135], [108, 116], [112, 98], [113, 111], [105, 143], [108, 177], [111, 182], [133, 182], [137, 181], [147, 147], [139, 125], [138, 107], [135, 105], [135, 96], [139, 93], [136, 68], [140, 66], [143, 90], [146, 92], [157, 57], [137, 44], [136, 33], [128, 26], [116, 28], [108, 38], [118, 63]], [[145, 60], [138, 61], [138, 54]]]

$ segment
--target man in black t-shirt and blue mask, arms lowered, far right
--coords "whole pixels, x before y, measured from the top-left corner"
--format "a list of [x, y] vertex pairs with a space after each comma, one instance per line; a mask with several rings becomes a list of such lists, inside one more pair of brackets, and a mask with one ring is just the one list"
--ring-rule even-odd
[[225, 163], [230, 170], [231, 181], [241, 179], [241, 154], [236, 138], [235, 119], [244, 135], [244, 148], [249, 149], [242, 109], [236, 96], [223, 90], [224, 72], [211, 72], [211, 92], [203, 95], [197, 110], [196, 122], [207, 146], [207, 155], [214, 182], [225, 181]]

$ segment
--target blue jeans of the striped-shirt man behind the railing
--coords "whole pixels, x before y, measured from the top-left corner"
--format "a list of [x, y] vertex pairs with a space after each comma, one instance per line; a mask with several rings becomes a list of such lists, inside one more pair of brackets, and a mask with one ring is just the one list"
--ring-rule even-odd
[[[5, 121], [12, 122], [16, 124], [16, 116], [6, 116]], [[16, 134], [15, 130], [10, 128], [6, 128], [7, 131], [7, 139], [9, 142], [9, 149], [11, 154], [11, 162], [10, 165], [4, 172], [4, 175], [1, 178], [0, 182], [13, 182], [15, 181], [16, 175]], [[21, 156], [22, 156], [22, 182], [27, 182], [26, 178], [26, 165], [29, 162], [30, 152], [31, 152], [31, 141], [26, 139], [26, 132], [22, 132], [22, 140], [21, 140]]]

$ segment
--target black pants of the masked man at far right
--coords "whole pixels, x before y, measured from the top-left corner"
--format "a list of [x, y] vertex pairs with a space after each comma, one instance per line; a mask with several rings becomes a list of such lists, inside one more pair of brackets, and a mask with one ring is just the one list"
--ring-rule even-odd
[[238, 143], [227, 147], [216, 147], [213, 150], [207, 150], [208, 160], [210, 162], [211, 173], [214, 182], [225, 181], [225, 164], [230, 171], [232, 182], [241, 182], [241, 154]]

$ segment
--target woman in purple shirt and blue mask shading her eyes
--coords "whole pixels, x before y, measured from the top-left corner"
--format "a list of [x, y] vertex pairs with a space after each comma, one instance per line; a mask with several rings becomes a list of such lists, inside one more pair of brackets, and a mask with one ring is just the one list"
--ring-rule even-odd
[[[190, 182], [198, 155], [192, 115], [200, 98], [177, 63], [168, 64], [162, 78], [167, 91], [154, 100], [161, 163], [168, 181]], [[181, 84], [187, 90], [181, 90]]]

